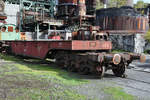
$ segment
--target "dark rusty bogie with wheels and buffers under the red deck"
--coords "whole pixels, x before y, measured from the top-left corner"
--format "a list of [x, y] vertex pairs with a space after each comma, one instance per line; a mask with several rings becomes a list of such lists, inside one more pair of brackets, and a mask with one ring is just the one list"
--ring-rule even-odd
[[[68, 53], [58, 52], [56, 63], [62, 68], [80, 74], [97, 74], [102, 78], [107, 70], [112, 70], [117, 77], [126, 77], [125, 70], [129, 62], [138, 58], [139, 54], [105, 54], [105, 53]], [[141, 59], [140, 59], [141, 60]]]

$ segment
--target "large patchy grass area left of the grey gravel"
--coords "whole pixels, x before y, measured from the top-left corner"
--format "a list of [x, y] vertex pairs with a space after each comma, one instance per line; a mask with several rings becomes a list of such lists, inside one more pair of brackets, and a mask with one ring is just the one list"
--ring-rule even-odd
[[[7, 55], [1, 58], [11, 62], [0, 65], [0, 87], [7, 90], [7, 100], [87, 100], [86, 96], [70, 89], [89, 82], [74, 73], [53, 64], [25, 63]], [[0, 94], [5, 93], [0, 91]], [[0, 95], [0, 100], [3, 99]]]

